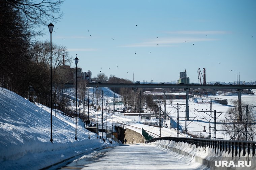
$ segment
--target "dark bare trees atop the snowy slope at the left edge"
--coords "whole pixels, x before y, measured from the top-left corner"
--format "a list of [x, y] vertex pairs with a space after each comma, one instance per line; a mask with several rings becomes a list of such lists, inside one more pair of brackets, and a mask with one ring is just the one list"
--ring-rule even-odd
[[[0, 86], [23, 97], [28, 97], [32, 86], [37, 102], [46, 106], [50, 105], [51, 95], [50, 42], [35, 41], [43, 34], [35, 28], [47, 28], [50, 21], [58, 21], [62, 3], [61, 0], [0, 0]], [[52, 45], [53, 102], [66, 100], [57, 96], [63, 79], [56, 72], [63, 54], [65, 62], [70, 63], [66, 47]], [[66, 104], [67, 101], [62, 102], [59, 107], [65, 110]]]

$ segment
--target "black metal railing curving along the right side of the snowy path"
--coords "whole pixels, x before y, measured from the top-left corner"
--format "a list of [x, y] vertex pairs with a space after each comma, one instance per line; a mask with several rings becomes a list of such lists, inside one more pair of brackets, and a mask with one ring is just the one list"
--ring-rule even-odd
[[[155, 142], [158, 140], [172, 140], [176, 143], [184, 142], [195, 147], [209, 147], [216, 152], [228, 153], [232, 157], [256, 157], [255, 148], [256, 142], [254, 141], [242, 141], [242, 140], [212, 140], [212, 139], [201, 139], [201, 138], [178, 138], [178, 137], [156, 137], [149, 139], [146, 143]], [[243, 152], [242, 152], [243, 151]]]

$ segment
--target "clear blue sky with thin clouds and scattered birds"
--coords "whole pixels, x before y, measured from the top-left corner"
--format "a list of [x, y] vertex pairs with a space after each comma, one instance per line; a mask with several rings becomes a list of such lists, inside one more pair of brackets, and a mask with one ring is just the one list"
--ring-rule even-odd
[[61, 10], [52, 41], [93, 77], [171, 82], [186, 69], [196, 83], [206, 68], [207, 82], [256, 80], [255, 0], [66, 0]]

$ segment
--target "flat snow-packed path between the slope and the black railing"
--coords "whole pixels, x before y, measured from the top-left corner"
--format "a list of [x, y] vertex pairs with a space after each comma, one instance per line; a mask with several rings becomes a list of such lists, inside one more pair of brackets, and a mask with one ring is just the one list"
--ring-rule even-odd
[[150, 144], [122, 145], [85, 155], [62, 169], [210, 169], [179, 155]]

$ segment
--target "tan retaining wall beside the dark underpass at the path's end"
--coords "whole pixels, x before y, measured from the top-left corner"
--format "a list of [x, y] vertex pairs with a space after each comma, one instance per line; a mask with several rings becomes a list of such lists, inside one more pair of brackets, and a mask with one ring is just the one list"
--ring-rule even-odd
[[137, 143], [145, 143], [145, 138], [142, 136], [142, 134], [137, 133], [131, 129], [125, 130], [125, 138], [127, 140], [126, 144], [137, 144]]

